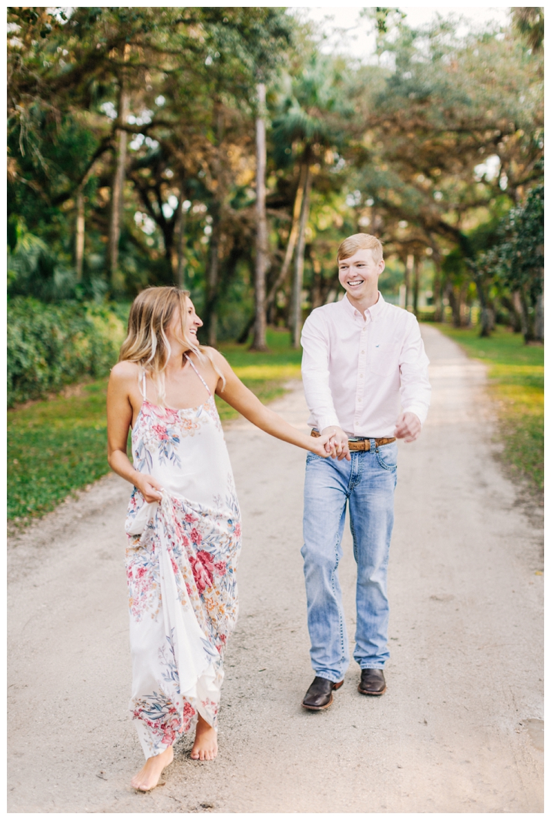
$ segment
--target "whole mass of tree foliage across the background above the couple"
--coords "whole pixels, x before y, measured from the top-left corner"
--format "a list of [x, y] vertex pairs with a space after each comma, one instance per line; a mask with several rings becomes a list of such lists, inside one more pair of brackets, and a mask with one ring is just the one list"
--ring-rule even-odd
[[[513, 8], [503, 30], [464, 35], [442, 17], [416, 30], [398, 8], [362, 13], [378, 34], [378, 64], [328, 55], [319, 32], [285, 7], [10, 7], [10, 295], [99, 303], [177, 283], [192, 291], [203, 339], [212, 327], [221, 340], [239, 338], [254, 304], [262, 81], [271, 321], [289, 321], [291, 276], [278, 274], [308, 167], [308, 307], [331, 298], [339, 241], [367, 230], [401, 270], [432, 252], [436, 315], [448, 299], [459, 321], [477, 298], [488, 332], [492, 316], [513, 315], [503, 303], [524, 277], [523, 321], [527, 338], [537, 336], [541, 276], [528, 270], [537, 253], [518, 266], [506, 249], [485, 257], [501, 240], [473, 243], [542, 180], [543, 7]], [[107, 273], [121, 127], [124, 207], [117, 270]], [[526, 233], [514, 218], [503, 239], [511, 247]]]

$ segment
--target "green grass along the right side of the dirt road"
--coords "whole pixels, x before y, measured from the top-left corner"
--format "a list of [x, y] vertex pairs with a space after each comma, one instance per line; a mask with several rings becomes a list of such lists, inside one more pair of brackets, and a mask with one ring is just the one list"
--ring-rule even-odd
[[478, 330], [438, 325], [465, 352], [489, 365], [490, 394], [497, 403], [503, 461], [531, 488], [544, 488], [544, 348], [497, 326], [489, 339]]

